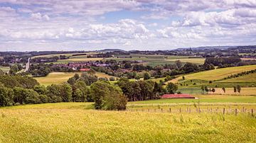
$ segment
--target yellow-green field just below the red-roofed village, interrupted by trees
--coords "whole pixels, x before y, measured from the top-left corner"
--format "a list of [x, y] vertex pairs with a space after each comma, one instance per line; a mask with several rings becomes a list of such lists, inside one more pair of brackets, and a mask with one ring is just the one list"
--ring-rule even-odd
[[[39, 82], [39, 84], [49, 86], [50, 84], [61, 84], [65, 81], [68, 81], [68, 79], [74, 76], [75, 74], [82, 74], [82, 72], [52, 72], [47, 76], [35, 77], [34, 79], [36, 79]], [[112, 77], [101, 72], [96, 72], [95, 75], [98, 77], [107, 77], [107, 79], [110, 79], [110, 77]]]

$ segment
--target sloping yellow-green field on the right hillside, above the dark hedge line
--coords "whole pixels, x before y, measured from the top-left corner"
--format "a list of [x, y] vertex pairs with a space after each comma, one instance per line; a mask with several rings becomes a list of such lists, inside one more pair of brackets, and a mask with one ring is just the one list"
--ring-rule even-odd
[[185, 75], [186, 79], [201, 79], [201, 80], [218, 80], [223, 79], [232, 74], [238, 74], [242, 71], [250, 71], [256, 69], [256, 65], [242, 66], [242, 67], [227, 67], [222, 69], [213, 69], [210, 71], [202, 71], [194, 74]]

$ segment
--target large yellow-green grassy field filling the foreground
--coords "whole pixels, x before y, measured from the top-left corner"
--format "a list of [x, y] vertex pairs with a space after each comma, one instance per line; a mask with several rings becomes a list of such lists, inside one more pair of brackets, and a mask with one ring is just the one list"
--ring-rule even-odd
[[0, 142], [254, 142], [247, 114], [86, 110], [92, 103], [0, 108]]

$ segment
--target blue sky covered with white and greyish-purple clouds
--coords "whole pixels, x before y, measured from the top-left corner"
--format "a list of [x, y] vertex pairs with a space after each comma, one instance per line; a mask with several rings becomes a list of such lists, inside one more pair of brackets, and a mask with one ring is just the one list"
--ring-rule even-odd
[[0, 0], [0, 51], [256, 45], [256, 0]]

